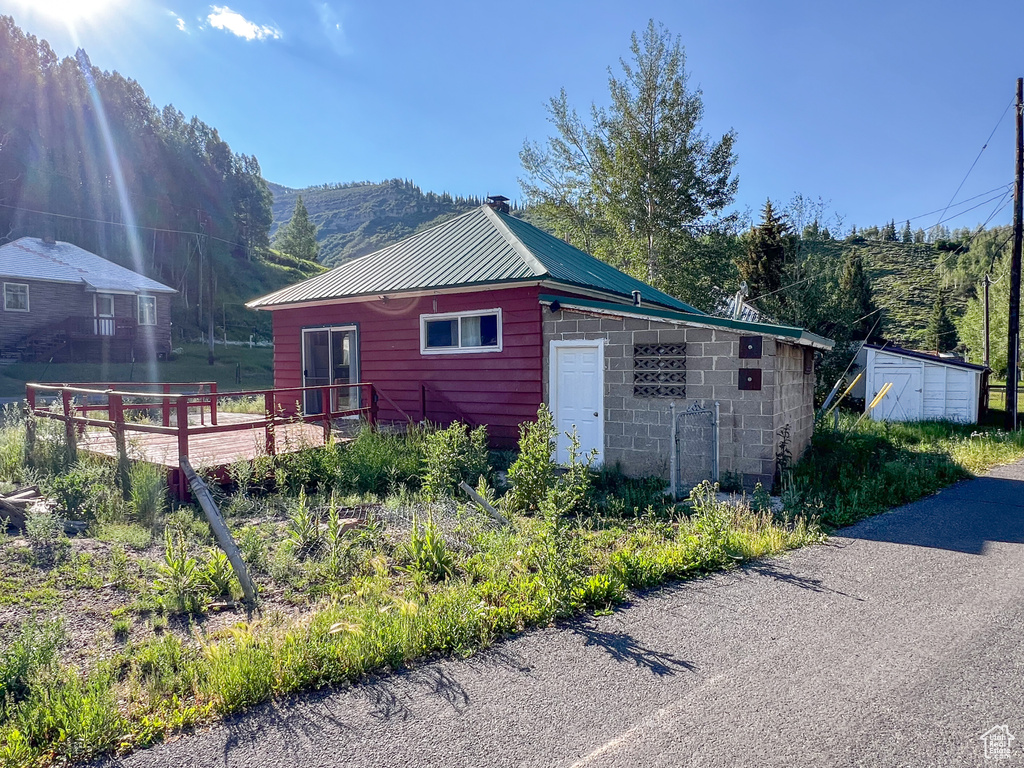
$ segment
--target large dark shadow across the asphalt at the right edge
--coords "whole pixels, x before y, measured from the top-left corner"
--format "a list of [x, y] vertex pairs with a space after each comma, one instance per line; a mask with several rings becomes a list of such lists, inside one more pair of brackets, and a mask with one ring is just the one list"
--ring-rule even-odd
[[959, 482], [836, 536], [972, 555], [984, 554], [989, 543], [1024, 544], [1024, 480], [986, 476]]

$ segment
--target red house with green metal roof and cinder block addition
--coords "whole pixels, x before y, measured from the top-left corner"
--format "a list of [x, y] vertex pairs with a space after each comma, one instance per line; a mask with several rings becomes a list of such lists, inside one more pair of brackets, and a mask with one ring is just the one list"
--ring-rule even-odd
[[[687, 393], [687, 360], [707, 362], [698, 338], [712, 342], [717, 333], [709, 351], [726, 357], [723, 342], [738, 356], [744, 331], [795, 349], [830, 346], [800, 329], [707, 315], [512, 217], [501, 199], [249, 306], [273, 313], [278, 387], [372, 382], [387, 396], [381, 419], [401, 418], [390, 398], [416, 420], [485, 424], [496, 444], [514, 442], [519, 424], [548, 402], [559, 428], [577, 427], [585, 447], [644, 472], [666, 473], [671, 463], [662, 425], [646, 423], [663, 417], [651, 414], [741, 388], [733, 367], [728, 392], [705, 387], [702, 374], [694, 388], [694, 371]], [[647, 349], [659, 333], [682, 334], [664, 358], [656, 344]], [[684, 351], [687, 333], [700, 361]], [[762, 398], [774, 397], [774, 375], [766, 372]], [[802, 419], [812, 407], [808, 375]], [[310, 392], [298, 404], [317, 413], [318, 398]], [[758, 429], [761, 441], [760, 431], [774, 426]], [[744, 466], [752, 476], [768, 469], [760, 455]]]

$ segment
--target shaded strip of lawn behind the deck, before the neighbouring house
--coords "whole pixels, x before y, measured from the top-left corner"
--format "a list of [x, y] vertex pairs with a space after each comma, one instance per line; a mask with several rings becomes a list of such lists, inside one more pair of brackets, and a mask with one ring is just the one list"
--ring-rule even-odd
[[[273, 349], [270, 347], [218, 346], [214, 365], [207, 361], [207, 347], [202, 344], [181, 344], [181, 354], [172, 360], [157, 361], [156, 373], [145, 362], [112, 364], [93, 362], [17, 362], [0, 370], [0, 397], [25, 395], [29, 381], [123, 382], [158, 381], [190, 382], [215, 381], [218, 390], [266, 389], [273, 386]], [[234, 381], [236, 368], [241, 366], [242, 383]]]

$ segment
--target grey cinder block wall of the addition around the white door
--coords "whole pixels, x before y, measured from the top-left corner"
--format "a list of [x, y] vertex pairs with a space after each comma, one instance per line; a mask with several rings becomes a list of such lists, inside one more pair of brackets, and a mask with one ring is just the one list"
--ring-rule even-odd
[[[550, 342], [571, 339], [606, 341], [604, 460], [617, 463], [629, 474], [668, 478], [672, 450], [672, 400], [633, 393], [635, 344], [686, 343], [686, 398], [676, 400], [677, 413], [695, 401], [707, 406], [718, 401], [720, 473], [738, 474], [749, 487], [756, 482], [770, 485], [775, 473], [776, 430], [784, 423], [792, 424], [795, 458], [810, 439], [813, 375], [804, 377], [803, 350], [799, 347], [764, 338], [760, 359], [740, 359], [739, 334], [734, 332], [639, 317], [545, 310], [545, 402], [550, 402]], [[761, 369], [760, 391], [739, 389], [740, 368]], [[798, 377], [808, 382], [795, 381]], [[801, 386], [793, 387], [797, 383]]]

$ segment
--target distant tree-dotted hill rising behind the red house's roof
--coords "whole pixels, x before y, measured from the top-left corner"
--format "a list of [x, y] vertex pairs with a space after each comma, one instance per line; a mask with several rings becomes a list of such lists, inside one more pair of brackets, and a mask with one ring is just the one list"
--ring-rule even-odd
[[269, 187], [273, 194], [271, 231], [291, 218], [295, 199], [301, 195], [310, 220], [319, 228], [319, 260], [327, 266], [376, 251], [482, 203], [479, 198], [423, 193], [412, 181], [402, 179], [322, 184], [304, 189], [273, 183]]

